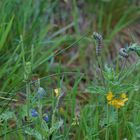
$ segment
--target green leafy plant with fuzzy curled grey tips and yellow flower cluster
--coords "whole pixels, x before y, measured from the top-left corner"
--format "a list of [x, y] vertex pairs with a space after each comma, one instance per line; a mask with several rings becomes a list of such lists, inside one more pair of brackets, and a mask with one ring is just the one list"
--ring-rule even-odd
[[[127, 79], [129, 75], [132, 74], [132, 71], [129, 73], [129, 75], [127, 74], [123, 76], [122, 74], [127, 73], [127, 71], [129, 71], [130, 69], [132, 70], [135, 67], [135, 65], [133, 64], [133, 67], [127, 68], [127, 71], [125, 70], [125, 67], [123, 68], [120, 67], [119, 71], [118, 70], [116, 71], [116, 67], [114, 65], [113, 66], [112, 65], [109, 66], [107, 64], [104, 65], [101, 59], [102, 57], [101, 50], [103, 49], [102, 47], [103, 45], [101, 45], [102, 44], [102, 40], [100, 37], [101, 35], [99, 35], [98, 33], [94, 33], [93, 36], [95, 40], [97, 40], [96, 54], [97, 57], [100, 57], [100, 61], [99, 58], [97, 58], [97, 61], [100, 70], [100, 73], [98, 73], [98, 77], [101, 80], [101, 83], [100, 85], [95, 85], [93, 82], [92, 85], [88, 86], [86, 92], [99, 95], [100, 98], [98, 98], [98, 102], [100, 102], [102, 106], [105, 106], [106, 104], [106, 108], [104, 108], [106, 120], [104, 121], [102, 121], [102, 119], [100, 120], [100, 122], [102, 123], [104, 122], [104, 124], [106, 124], [105, 139], [106, 140], [110, 139], [111, 133], [113, 133], [113, 131], [115, 130], [116, 135], [115, 137], [113, 137], [113, 139], [116, 138], [119, 140], [120, 139], [119, 125], [120, 121], [123, 119], [121, 114], [125, 109], [127, 109], [127, 103], [129, 102], [130, 96], [129, 93], [134, 92], [136, 87], [135, 84], [131, 82], [128, 83], [125, 81], [125, 79]], [[130, 57], [132, 52], [135, 52], [139, 56], [140, 47], [136, 43], [131, 44], [129, 47], [122, 49], [120, 49], [119, 57], [128, 59], [128, 57]], [[100, 55], [97, 50], [98, 51], [100, 50]], [[116, 127], [114, 130], [111, 130], [111, 128], [114, 127], [114, 124]]]

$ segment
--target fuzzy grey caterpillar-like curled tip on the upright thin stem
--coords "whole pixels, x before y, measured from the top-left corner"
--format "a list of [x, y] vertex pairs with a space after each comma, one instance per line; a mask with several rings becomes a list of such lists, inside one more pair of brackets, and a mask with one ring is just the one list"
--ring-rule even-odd
[[97, 45], [96, 45], [96, 54], [100, 55], [101, 53], [101, 49], [103, 47], [103, 37], [102, 35], [100, 35], [97, 32], [93, 32], [93, 37], [94, 39], [97, 41]]

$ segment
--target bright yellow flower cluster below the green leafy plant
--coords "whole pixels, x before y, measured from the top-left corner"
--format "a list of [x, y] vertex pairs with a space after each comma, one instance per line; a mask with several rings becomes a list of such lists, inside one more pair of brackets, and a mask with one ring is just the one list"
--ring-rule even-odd
[[114, 106], [115, 108], [124, 106], [125, 102], [128, 100], [125, 93], [122, 93], [119, 98], [115, 98], [111, 91], [107, 94], [106, 98], [108, 104]]

